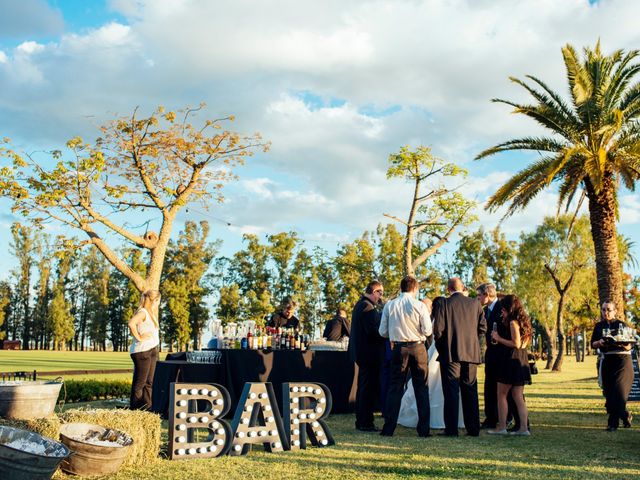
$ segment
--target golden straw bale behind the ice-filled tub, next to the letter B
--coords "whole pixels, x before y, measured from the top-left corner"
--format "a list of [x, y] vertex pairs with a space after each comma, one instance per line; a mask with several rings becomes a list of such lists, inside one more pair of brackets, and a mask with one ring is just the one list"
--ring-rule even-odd
[[127, 432], [133, 445], [123, 466], [148, 465], [158, 461], [160, 453], [160, 416], [140, 410], [78, 408], [60, 414], [63, 423], [95, 423]]

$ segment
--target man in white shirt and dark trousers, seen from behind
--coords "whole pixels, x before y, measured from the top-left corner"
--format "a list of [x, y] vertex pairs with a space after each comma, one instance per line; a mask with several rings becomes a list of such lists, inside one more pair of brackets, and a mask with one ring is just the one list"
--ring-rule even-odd
[[425, 342], [432, 334], [431, 317], [427, 306], [416, 299], [418, 281], [405, 277], [400, 282], [401, 294], [388, 302], [382, 311], [380, 335], [393, 346], [391, 353], [391, 379], [384, 427], [380, 435], [390, 437], [398, 423], [400, 403], [404, 394], [407, 374], [411, 380], [418, 409], [418, 436], [429, 437], [429, 358]]

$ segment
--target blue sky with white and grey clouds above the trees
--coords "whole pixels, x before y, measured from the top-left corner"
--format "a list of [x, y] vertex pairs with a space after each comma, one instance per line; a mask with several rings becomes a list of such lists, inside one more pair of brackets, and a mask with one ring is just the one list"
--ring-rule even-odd
[[[0, 0], [0, 138], [62, 148], [135, 107], [206, 102], [203, 118], [235, 115], [232, 128], [260, 132], [270, 151], [237, 169], [224, 204], [190, 207], [174, 228], [208, 220], [225, 255], [244, 233], [281, 231], [331, 252], [385, 213], [406, 217], [410, 185], [386, 179], [403, 145], [467, 168], [472, 228], [491, 229], [504, 212], [487, 213], [486, 199], [534, 156], [473, 158], [541, 130], [490, 100], [527, 100], [508, 79], [527, 74], [568, 96], [561, 47], [640, 48], [639, 17], [636, 0]], [[556, 198], [544, 191], [501, 228], [531, 231]], [[639, 207], [621, 192], [619, 230], [633, 241]], [[0, 202], [3, 251], [15, 220]], [[14, 266], [0, 256], [0, 278]]]

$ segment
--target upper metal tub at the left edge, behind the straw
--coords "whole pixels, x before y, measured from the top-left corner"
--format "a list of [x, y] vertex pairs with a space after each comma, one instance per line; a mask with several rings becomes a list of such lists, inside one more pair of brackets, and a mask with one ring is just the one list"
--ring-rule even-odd
[[37, 380], [0, 382], [0, 417], [16, 420], [48, 417], [53, 413], [62, 382]]

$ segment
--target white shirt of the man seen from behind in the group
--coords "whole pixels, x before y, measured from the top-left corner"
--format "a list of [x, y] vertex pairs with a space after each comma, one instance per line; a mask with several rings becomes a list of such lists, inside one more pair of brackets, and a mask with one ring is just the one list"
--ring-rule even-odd
[[378, 332], [392, 342], [424, 342], [432, 334], [427, 306], [409, 292], [388, 302]]

